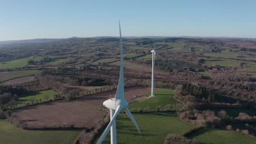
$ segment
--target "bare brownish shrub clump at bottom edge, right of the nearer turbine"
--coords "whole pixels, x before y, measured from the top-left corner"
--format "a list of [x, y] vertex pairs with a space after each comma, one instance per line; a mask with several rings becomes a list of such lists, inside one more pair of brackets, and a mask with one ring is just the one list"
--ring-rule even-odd
[[165, 144], [197, 144], [196, 140], [190, 140], [181, 135], [168, 134], [165, 139]]

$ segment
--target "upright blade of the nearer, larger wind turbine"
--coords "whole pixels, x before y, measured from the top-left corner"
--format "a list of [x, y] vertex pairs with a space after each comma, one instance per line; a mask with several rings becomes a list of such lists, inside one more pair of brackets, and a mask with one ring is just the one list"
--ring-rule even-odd
[[124, 62], [123, 62], [123, 41], [121, 35], [121, 26], [119, 21], [119, 33], [120, 33], [120, 75], [117, 92], [115, 93], [115, 99], [124, 98]]

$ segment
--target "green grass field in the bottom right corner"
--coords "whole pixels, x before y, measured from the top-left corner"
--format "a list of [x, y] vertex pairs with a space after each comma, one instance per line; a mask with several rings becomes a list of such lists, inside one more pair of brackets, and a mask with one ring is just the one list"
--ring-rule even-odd
[[196, 139], [199, 143], [212, 144], [255, 144], [256, 138], [236, 133], [236, 131], [201, 129], [192, 133], [189, 138]]

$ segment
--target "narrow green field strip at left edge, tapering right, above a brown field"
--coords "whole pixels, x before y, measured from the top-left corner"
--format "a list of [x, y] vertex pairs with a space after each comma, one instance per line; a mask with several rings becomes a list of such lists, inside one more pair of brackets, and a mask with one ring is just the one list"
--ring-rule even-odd
[[17, 77], [30, 76], [39, 73], [39, 70], [8, 71], [0, 73], [0, 82], [15, 79]]

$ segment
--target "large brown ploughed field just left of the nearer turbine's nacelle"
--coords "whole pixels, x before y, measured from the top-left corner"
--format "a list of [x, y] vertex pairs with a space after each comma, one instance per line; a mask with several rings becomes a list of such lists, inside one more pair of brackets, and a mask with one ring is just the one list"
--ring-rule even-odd
[[13, 110], [11, 117], [16, 126], [37, 128], [91, 128], [106, 115], [103, 111], [56, 101]]

